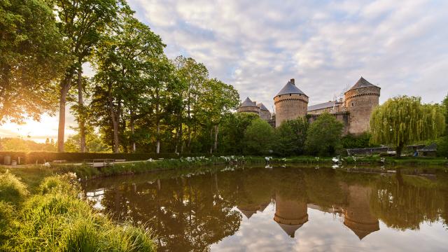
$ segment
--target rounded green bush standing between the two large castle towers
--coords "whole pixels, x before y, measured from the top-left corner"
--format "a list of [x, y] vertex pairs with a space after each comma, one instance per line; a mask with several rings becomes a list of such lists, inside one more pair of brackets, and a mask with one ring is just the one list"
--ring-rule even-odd
[[333, 155], [340, 145], [344, 125], [329, 113], [323, 113], [309, 125], [305, 148], [311, 155]]

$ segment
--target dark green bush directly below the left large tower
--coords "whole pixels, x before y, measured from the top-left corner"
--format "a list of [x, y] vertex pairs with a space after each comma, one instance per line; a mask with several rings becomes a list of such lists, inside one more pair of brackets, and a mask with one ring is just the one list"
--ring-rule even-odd
[[274, 153], [283, 157], [302, 155], [308, 127], [305, 118], [281, 123], [280, 127], [275, 129]]

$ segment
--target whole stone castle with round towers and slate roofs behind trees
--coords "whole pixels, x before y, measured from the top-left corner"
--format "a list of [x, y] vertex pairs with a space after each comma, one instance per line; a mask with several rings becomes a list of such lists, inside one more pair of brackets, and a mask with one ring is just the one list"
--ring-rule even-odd
[[370, 114], [379, 104], [380, 90], [380, 87], [361, 77], [344, 92], [344, 98], [308, 106], [309, 97], [295, 85], [294, 79], [290, 79], [274, 97], [275, 113], [248, 97], [240, 104], [237, 112], [258, 114], [273, 127], [279, 127], [285, 120], [305, 116], [311, 123], [321, 113], [327, 112], [344, 123], [344, 134], [361, 134], [369, 130]]

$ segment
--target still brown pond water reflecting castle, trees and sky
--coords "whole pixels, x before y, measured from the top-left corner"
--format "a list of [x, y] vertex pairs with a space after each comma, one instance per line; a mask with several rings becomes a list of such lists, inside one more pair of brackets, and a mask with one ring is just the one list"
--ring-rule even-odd
[[448, 172], [428, 171], [213, 167], [84, 187], [160, 251], [448, 251]]

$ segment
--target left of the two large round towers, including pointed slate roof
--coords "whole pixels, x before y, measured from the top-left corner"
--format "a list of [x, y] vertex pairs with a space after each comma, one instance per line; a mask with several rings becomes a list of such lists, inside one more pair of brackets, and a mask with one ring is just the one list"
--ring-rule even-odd
[[293, 120], [306, 116], [308, 110], [308, 96], [295, 86], [291, 79], [274, 97], [275, 127], [279, 127], [284, 120]]

